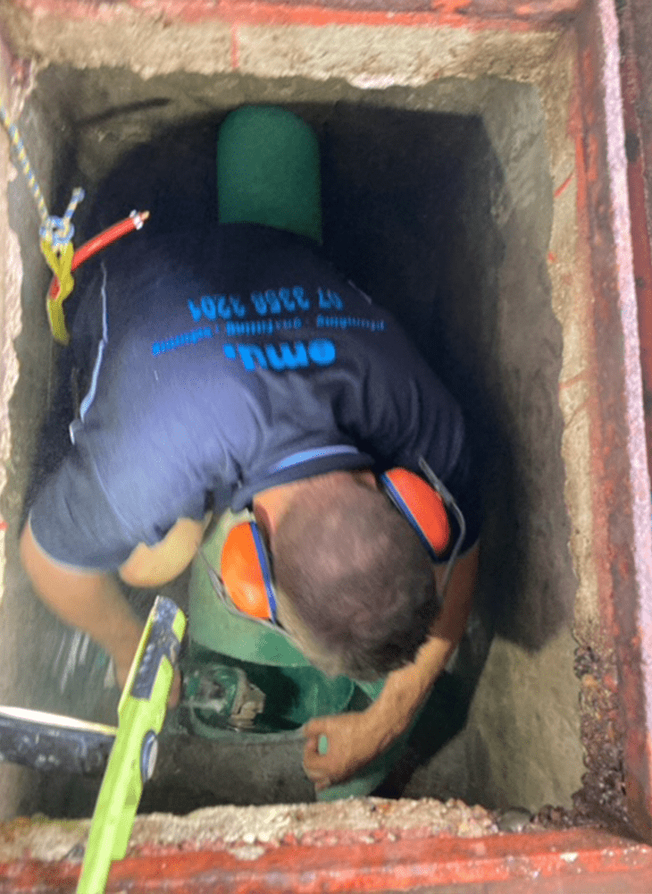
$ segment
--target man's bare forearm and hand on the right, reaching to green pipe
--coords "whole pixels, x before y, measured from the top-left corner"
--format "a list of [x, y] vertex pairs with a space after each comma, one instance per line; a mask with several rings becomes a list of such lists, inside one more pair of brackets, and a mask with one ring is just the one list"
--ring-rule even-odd
[[[305, 724], [304, 767], [317, 791], [347, 780], [370, 763], [414, 719], [464, 634], [477, 581], [478, 553], [476, 545], [456, 562], [430, 637], [412, 664], [389, 674], [380, 696], [366, 711], [317, 717]], [[318, 751], [322, 735], [328, 738], [326, 755]]]

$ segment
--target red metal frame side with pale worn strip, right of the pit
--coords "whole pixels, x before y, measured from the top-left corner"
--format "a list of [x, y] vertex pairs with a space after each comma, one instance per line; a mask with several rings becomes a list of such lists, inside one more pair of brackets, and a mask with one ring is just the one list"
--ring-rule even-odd
[[631, 222], [624, 151], [619, 32], [613, 0], [576, 23], [584, 189], [593, 285], [594, 520], [600, 609], [614, 642], [631, 819], [652, 839], [648, 723], [652, 706], [652, 526]]

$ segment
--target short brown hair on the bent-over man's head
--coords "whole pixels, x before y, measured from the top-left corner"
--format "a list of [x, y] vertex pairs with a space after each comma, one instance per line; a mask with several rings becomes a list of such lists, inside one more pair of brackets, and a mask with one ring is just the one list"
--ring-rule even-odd
[[375, 679], [414, 661], [437, 611], [418, 536], [380, 491], [350, 475], [297, 495], [274, 536], [274, 577], [342, 672]]

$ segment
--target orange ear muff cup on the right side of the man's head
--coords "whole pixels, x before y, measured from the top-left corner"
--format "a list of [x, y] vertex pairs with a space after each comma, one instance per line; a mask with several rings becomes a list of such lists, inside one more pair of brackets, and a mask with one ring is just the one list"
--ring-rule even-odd
[[380, 476], [389, 499], [419, 535], [430, 558], [440, 561], [450, 540], [450, 522], [444, 501], [422, 477], [406, 468], [391, 468]]

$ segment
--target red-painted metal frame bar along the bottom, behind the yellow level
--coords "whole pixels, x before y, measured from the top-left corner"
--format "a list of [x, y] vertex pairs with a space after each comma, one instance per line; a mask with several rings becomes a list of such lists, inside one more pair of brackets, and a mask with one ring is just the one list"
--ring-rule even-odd
[[[232, 847], [148, 848], [113, 865], [107, 894], [652, 891], [652, 848], [590, 829], [260, 849], [263, 853], [251, 859]], [[78, 875], [79, 864], [26, 859], [0, 864], [0, 890], [70, 891]]]

